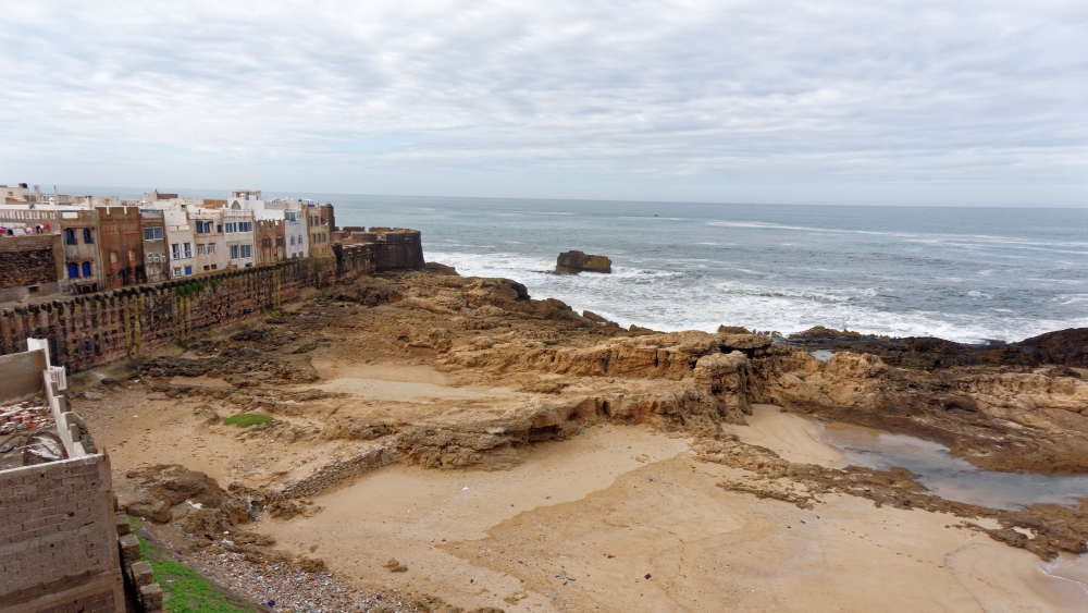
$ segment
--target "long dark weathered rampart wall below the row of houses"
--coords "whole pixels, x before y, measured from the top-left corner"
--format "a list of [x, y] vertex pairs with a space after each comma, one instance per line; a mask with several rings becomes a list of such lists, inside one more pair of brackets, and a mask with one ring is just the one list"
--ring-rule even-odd
[[297, 302], [305, 287], [348, 283], [375, 271], [373, 245], [336, 257], [304, 258], [196, 279], [122, 287], [0, 311], [0, 355], [48, 339], [52, 361], [76, 372], [146, 355], [269, 309]]

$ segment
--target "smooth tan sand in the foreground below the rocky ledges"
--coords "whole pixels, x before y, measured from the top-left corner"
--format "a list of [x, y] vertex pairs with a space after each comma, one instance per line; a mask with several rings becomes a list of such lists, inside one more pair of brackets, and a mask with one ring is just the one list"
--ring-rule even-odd
[[[838, 459], [815, 424], [766, 406], [753, 417], [735, 428], [742, 439], [795, 461]], [[316, 498], [324, 508], [312, 517], [258, 529], [288, 551], [316, 548], [364, 587], [507, 611], [1088, 605], [1030, 553], [954, 527], [952, 516], [852, 496], [803, 511], [715, 486], [739, 475], [694, 461], [683, 440], [598, 427], [539, 445], [507, 471], [385, 468]], [[408, 572], [383, 568], [391, 557]]]

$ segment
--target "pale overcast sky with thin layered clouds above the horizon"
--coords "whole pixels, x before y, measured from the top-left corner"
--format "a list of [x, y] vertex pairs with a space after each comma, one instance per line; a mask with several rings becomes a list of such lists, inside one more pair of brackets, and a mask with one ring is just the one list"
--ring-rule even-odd
[[1088, 2], [0, 0], [0, 183], [1088, 206]]

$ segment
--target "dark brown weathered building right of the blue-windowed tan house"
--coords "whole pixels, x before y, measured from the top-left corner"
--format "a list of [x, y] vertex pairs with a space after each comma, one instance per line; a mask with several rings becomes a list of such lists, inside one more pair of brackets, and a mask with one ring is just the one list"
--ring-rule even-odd
[[137, 207], [98, 208], [102, 277], [107, 287], [147, 283], [144, 228]]

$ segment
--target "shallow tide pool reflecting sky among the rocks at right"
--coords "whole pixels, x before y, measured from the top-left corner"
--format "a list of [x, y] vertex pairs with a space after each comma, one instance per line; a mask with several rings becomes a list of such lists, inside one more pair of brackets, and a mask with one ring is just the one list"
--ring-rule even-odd
[[823, 424], [828, 442], [845, 454], [842, 466], [887, 470], [894, 466], [920, 475], [918, 481], [947, 500], [989, 508], [1015, 510], [1035, 503], [1076, 505], [1088, 499], [1088, 476], [1065, 477], [981, 470], [944, 445], [869, 428]]

